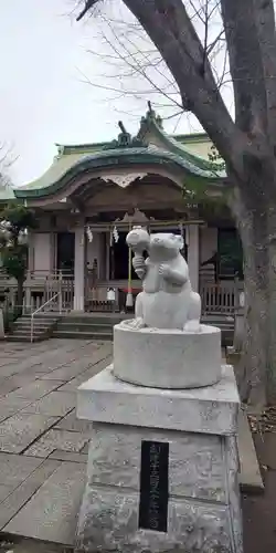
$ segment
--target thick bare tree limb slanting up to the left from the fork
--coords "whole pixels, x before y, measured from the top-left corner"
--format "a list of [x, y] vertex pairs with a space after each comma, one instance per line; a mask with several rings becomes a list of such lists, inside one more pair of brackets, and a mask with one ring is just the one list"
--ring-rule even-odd
[[204, 50], [181, 0], [126, 0], [160, 51], [190, 109], [197, 115], [221, 155], [232, 165], [242, 136], [226, 109]]

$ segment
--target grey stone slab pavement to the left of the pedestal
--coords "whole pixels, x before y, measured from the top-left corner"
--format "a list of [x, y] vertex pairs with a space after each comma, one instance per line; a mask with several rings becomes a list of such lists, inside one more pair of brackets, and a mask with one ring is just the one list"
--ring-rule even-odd
[[1, 532], [73, 544], [91, 431], [76, 388], [110, 359], [110, 343], [0, 343]]

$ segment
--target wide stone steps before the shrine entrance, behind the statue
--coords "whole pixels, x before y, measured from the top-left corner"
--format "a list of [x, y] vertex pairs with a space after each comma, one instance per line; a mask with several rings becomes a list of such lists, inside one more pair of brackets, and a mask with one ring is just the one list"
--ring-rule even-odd
[[[53, 336], [60, 338], [83, 338], [83, 340], [113, 340], [113, 326], [124, 319], [134, 315], [84, 313], [75, 315], [70, 313], [63, 315], [57, 321], [53, 330]], [[219, 326], [222, 331], [222, 345], [233, 344], [234, 319], [225, 315], [209, 315], [202, 317], [202, 323]]]

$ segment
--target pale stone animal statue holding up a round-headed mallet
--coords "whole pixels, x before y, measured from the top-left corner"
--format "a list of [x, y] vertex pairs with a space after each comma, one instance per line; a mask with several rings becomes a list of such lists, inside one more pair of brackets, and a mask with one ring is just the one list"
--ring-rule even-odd
[[[156, 233], [134, 228], [127, 244], [135, 252], [134, 269], [142, 280], [142, 292], [136, 300], [136, 320], [127, 324], [136, 328], [200, 330], [201, 299], [192, 291], [189, 269], [180, 251], [181, 236]], [[145, 260], [144, 252], [148, 258]]]

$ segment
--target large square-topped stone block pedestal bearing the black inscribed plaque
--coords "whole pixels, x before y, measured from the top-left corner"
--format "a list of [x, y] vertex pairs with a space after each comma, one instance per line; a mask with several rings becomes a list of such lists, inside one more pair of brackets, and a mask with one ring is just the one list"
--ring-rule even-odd
[[118, 380], [108, 367], [78, 388], [94, 422], [77, 550], [242, 553], [238, 395], [231, 366], [205, 388]]

